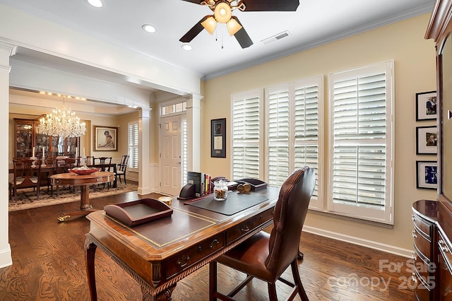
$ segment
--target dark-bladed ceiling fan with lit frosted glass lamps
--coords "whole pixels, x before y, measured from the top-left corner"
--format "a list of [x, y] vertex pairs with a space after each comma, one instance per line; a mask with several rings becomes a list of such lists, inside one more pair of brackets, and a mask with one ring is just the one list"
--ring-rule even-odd
[[196, 35], [206, 29], [213, 35], [217, 23], [225, 23], [229, 34], [237, 39], [242, 48], [250, 47], [253, 41], [244, 30], [237, 17], [232, 16], [234, 9], [240, 11], [296, 11], [299, 0], [182, 0], [194, 4], [206, 5], [213, 15], [208, 15], [199, 20], [179, 41], [188, 43]]

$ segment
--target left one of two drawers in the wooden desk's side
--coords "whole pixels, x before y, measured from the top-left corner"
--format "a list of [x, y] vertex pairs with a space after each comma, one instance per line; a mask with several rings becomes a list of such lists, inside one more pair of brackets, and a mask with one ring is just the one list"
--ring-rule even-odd
[[198, 263], [201, 259], [209, 256], [225, 246], [225, 238], [222, 233], [201, 242], [200, 244], [184, 250], [177, 255], [170, 257], [167, 260], [167, 275], [166, 278], [174, 276], [177, 273], [184, 271], [192, 264]]

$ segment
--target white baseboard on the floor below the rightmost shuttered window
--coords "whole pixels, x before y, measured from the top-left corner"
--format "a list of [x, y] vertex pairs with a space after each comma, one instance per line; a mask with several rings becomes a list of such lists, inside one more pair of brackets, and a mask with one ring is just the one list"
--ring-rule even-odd
[[343, 235], [337, 232], [331, 232], [331, 231], [327, 231], [327, 230], [322, 230], [319, 228], [314, 228], [314, 227], [309, 227], [309, 226], [304, 226], [303, 227], [303, 231], [311, 233], [311, 234], [315, 234], [315, 235], [320, 235], [323, 237], [328, 237], [331, 238], [333, 240], [340, 240], [341, 242], [348, 242], [350, 244], [357, 244], [359, 246], [362, 247], [368, 247], [371, 249], [376, 249], [379, 251], [383, 251], [383, 252], [388, 252], [391, 254], [395, 254], [398, 256], [403, 256], [406, 258], [412, 258], [412, 250], [410, 249], [403, 249], [400, 247], [394, 247], [391, 246], [389, 244], [382, 244], [381, 242], [374, 242], [372, 240], [364, 240], [362, 238], [359, 237], [353, 237], [353, 236], [349, 236], [349, 235]]

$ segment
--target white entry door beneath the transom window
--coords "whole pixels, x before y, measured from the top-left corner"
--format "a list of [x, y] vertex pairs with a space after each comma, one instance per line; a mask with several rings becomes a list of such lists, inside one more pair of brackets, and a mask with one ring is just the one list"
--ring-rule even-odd
[[181, 190], [180, 116], [160, 119], [160, 193], [177, 196]]

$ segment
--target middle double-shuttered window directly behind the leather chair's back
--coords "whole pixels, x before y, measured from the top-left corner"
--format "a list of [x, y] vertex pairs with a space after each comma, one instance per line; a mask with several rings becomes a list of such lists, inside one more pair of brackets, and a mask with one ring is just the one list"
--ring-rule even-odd
[[[297, 168], [319, 168], [323, 122], [323, 76], [266, 88], [267, 175], [270, 186], [281, 186]], [[321, 151], [321, 150], [320, 150]], [[319, 180], [310, 208], [321, 208]]]

